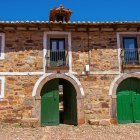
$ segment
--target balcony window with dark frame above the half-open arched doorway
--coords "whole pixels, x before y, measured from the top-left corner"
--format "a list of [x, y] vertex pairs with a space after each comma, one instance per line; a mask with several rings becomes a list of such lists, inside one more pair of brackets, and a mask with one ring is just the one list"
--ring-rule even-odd
[[51, 39], [50, 66], [64, 66], [65, 60], [65, 39]]

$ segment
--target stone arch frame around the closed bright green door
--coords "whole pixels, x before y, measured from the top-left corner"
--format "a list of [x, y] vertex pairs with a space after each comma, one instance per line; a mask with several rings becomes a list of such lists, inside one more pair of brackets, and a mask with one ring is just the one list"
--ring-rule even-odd
[[140, 79], [140, 73], [129, 73], [129, 74], [121, 74], [118, 75], [113, 82], [111, 83], [110, 89], [109, 89], [109, 95], [112, 98], [112, 105], [111, 105], [111, 117], [112, 118], [116, 118], [117, 114], [116, 114], [116, 92], [117, 92], [117, 88], [119, 86], [119, 84], [127, 79], [127, 78], [138, 78]]

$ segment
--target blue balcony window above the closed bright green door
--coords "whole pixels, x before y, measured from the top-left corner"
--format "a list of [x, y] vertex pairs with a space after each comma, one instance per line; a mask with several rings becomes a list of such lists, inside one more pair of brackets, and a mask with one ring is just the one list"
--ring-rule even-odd
[[138, 63], [138, 47], [136, 37], [123, 38], [124, 63]]

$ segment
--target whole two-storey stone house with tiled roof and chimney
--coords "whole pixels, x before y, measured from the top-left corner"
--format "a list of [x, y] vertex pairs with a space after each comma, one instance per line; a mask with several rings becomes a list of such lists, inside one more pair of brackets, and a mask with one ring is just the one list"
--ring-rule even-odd
[[140, 121], [140, 22], [0, 21], [0, 119]]

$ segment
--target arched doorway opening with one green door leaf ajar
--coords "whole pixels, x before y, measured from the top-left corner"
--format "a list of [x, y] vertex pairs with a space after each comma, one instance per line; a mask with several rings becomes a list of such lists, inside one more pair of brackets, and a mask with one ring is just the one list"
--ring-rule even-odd
[[67, 80], [55, 78], [41, 90], [41, 124], [77, 125], [76, 90]]

